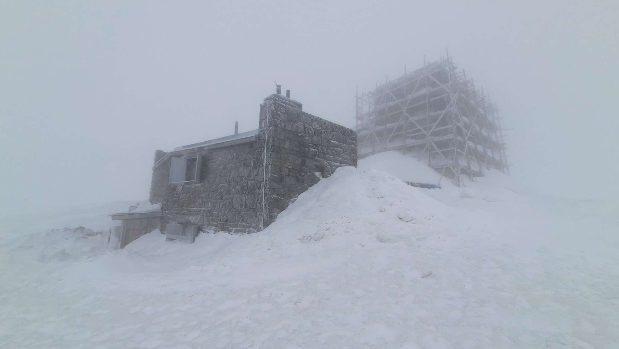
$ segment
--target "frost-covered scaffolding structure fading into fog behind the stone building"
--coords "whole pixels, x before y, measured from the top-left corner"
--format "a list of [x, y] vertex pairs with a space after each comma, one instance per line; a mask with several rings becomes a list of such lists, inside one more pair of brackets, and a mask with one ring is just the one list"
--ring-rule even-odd
[[399, 149], [417, 151], [428, 165], [459, 182], [494, 167], [509, 174], [501, 118], [490, 97], [475, 89], [449, 55], [357, 91], [359, 158]]

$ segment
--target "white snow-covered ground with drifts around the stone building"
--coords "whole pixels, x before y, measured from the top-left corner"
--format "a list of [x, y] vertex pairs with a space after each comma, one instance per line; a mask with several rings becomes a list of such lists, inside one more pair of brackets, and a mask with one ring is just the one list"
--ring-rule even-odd
[[[617, 203], [543, 197], [494, 172], [413, 188], [377, 167], [440, 177], [378, 154], [321, 180], [264, 232], [194, 244], [156, 231], [110, 252], [105, 234], [4, 223], [0, 348], [619, 343]], [[100, 229], [108, 213], [71, 219]]]

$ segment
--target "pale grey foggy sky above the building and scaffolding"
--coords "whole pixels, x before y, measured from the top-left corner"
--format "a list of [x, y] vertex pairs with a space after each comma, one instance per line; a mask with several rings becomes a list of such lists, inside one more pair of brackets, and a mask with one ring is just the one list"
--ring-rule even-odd
[[501, 108], [513, 177], [619, 195], [619, 1], [2, 1], [0, 209], [148, 197], [155, 149], [258, 127], [275, 81], [353, 126], [449, 54]]

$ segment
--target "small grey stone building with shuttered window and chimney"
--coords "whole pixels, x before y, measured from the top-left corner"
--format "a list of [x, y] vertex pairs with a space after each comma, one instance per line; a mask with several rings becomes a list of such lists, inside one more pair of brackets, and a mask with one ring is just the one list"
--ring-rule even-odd
[[163, 231], [180, 223], [256, 232], [340, 166], [357, 166], [355, 131], [272, 94], [260, 105], [258, 130], [156, 151], [150, 202], [161, 203]]

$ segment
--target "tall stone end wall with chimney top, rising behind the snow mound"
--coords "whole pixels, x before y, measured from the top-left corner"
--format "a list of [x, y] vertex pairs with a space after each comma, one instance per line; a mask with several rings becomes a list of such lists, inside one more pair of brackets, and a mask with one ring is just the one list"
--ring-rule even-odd
[[329, 177], [337, 167], [357, 167], [357, 133], [303, 112], [300, 103], [277, 94], [267, 97], [261, 105], [261, 128], [266, 125], [267, 107], [266, 221], [271, 224], [290, 200], [321, 177]]

